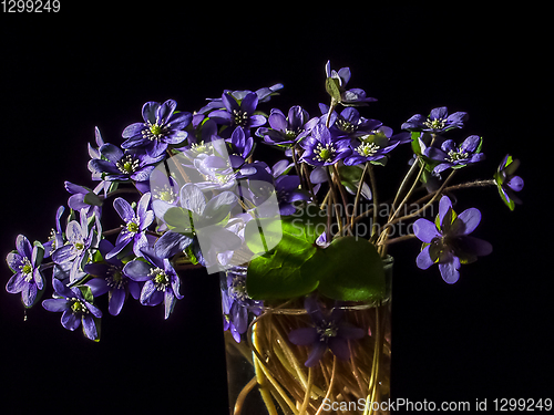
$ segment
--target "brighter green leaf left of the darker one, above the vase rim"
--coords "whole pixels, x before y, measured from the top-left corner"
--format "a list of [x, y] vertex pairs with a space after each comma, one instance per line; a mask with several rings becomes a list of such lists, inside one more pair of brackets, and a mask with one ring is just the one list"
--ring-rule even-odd
[[248, 266], [248, 295], [256, 300], [288, 299], [308, 294], [317, 288], [318, 274], [311, 272], [308, 263], [318, 250], [315, 240], [317, 232], [324, 230], [319, 226], [324, 219], [319, 216], [291, 216], [281, 221], [281, 240]]

